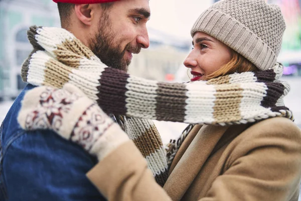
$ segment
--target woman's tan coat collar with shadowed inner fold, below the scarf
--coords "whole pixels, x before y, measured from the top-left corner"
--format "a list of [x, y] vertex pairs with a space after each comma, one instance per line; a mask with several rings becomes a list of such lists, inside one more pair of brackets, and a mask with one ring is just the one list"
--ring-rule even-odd
[[196, 125], [178, 150], [170, 168], [170, 176], [164, 185], [172, 200], [181, 200], [210, 155], [232, 141], [248, 126]]

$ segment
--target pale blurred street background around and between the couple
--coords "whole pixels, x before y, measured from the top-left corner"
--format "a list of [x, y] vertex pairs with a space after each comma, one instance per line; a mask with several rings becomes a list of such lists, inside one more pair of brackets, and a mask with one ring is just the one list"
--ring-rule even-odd
[[[183, 61], [191, 50], [190, 29], [214, 0], [152, 0], [148, 25], [150, 47], [135, 55], [129, 73], [147, 79], [188, 81]], [[280, 6], [286, 31], [278, 61], [285, 66], [283, 80], [291, 85], [285, 104], [301, 127], [301, 0], [269, 0]], [[32, 47], [27, 40], [29, 26], [60, 27], [52, 0], [0, 0], [0, 124], [26, 83], [21, 65]], [[164, 143], [177, 138], [185, 124], [155, 122]]]

